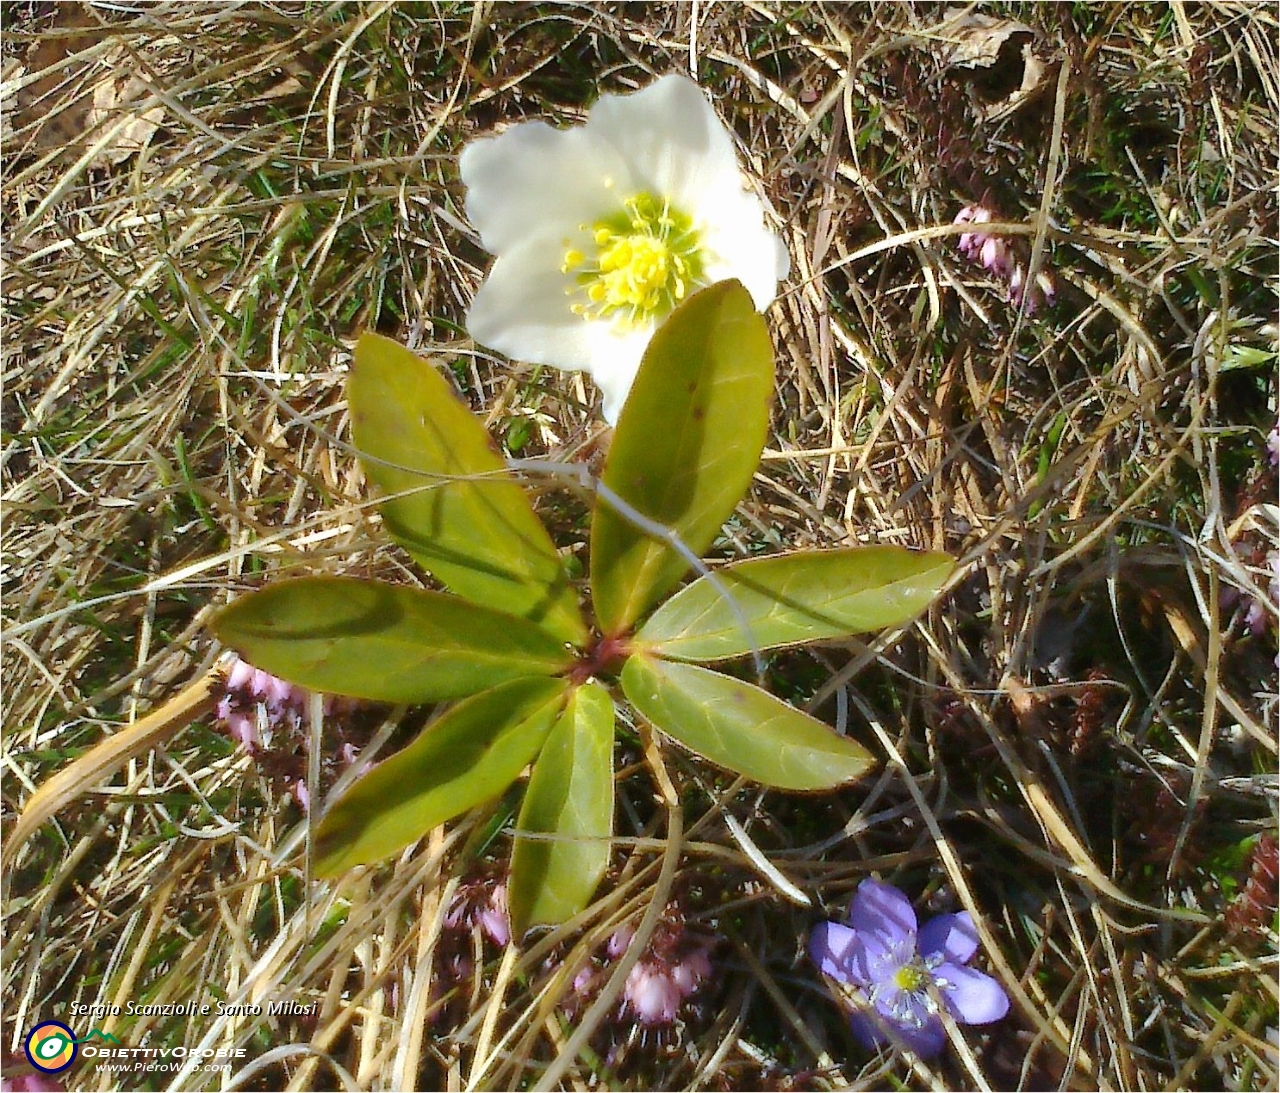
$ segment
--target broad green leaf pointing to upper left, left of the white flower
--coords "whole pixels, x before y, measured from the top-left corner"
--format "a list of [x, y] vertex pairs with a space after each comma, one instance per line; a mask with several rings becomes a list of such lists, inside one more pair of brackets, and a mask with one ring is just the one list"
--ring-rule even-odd
[[581, 646], [577, 593], [547, 529], [444, 378], [403, 346], [364, 334], [347, 401], [365, 474], [393, 495], [383, 521], [415, 561], [460, 596]]

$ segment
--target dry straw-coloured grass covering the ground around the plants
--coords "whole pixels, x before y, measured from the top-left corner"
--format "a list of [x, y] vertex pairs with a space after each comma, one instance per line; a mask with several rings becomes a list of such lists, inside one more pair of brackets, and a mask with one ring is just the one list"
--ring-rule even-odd
[[[774, 436], [723, 553], [851, 538], [964, 563], [909, 632], [772, 664], [882, 773], [796, 800], [668, 753], [676, 841], [631, 765], [598, 904], [477, 948], [451, 996], [442, 909], [500, 859], [489, 818], [308, 884], [305, 817], [192, 724], [15, 849], [6, 1074], [73, 1002], [288, 997], [317, 1016], [99, 1024], [244, 1046], [250, 1088], [525, 1088], [556, 1060], [573, 1089], [1275, 1087], [1265, 863], [1238, 896], [1276, 827], [1275, 13], [988, 10], [1046, 61], [1004, 113], [1007, 65], [948, 69], [923, 3], [6, 5], [10, 827], [209, 667], [210, 607], [266, 573], [407, 576], [344, 440], [360, 330], [449, 362], [513, 453], [593, 457], [580, 380], [465, 337], [485, 256], [456, 154], [650, 73], [696, 65], [794, 259]], [[957, 255], [983, 197], [1030, 225], [1052, 310], [1019, 317]], [[974, 911], [1014, 997], [931, 1066], [868, 1057], [803, 955], [872, 872]], [[566, 1056], [575, 966], [667, 895], [719, 938], [714, 987], [673, 1030], [604, 1014]]]

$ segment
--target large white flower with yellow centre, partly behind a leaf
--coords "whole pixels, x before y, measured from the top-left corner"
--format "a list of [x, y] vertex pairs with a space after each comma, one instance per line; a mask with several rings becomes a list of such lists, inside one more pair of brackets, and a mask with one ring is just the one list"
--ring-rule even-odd
[[467, 330], [509, 357], [589, 372], [611, 424], [685, 296], [737, 278], [763, 311], [790, 267], [732, 137], [682, 76], [604, 95], [573, 129], [512, 125], [458, 166], [467, 216], [497, 255]]

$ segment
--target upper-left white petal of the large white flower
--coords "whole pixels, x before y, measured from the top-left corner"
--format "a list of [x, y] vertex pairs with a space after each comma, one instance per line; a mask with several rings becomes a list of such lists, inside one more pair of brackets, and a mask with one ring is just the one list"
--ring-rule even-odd
[[[467, 188], [467, 219], [495, 255], [531, 234], [589, 225], [614, 211], [635, 186], [608, 141], [586, 127], [553, 129], [545, 122], [472, 141], [458, 157], [458, 172]], [[556, 256], [562, 259], [563, 248]]]

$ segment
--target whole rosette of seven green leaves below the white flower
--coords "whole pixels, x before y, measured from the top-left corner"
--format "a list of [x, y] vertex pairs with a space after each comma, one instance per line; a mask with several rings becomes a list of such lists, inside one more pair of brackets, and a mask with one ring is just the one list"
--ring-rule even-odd
[[[909, 622], [952, 570], [896, 546], [698, 563], [763, 451], [773, 353], [750, 293], [691, 294], [645, 349], [605, 462], [590, 590], [481, 424], [426, 360], [364, 335], [348, 387], [353, 438], [388, 532], [444, 591], [282, 581], [214, 622], [251, 663], [316, 691], [445, 705], [316, 832], [333, 875], [403, 850], [531, 770], [512, 854], [517, 936], [590, 901], [613, 831], [616, 704], [765, 786], [831, 790], [872, 755], [723, 662]], [[677, 587], [698, 564], [703, 573]], [[672, 594], [673, 593], [673, 594]]]

